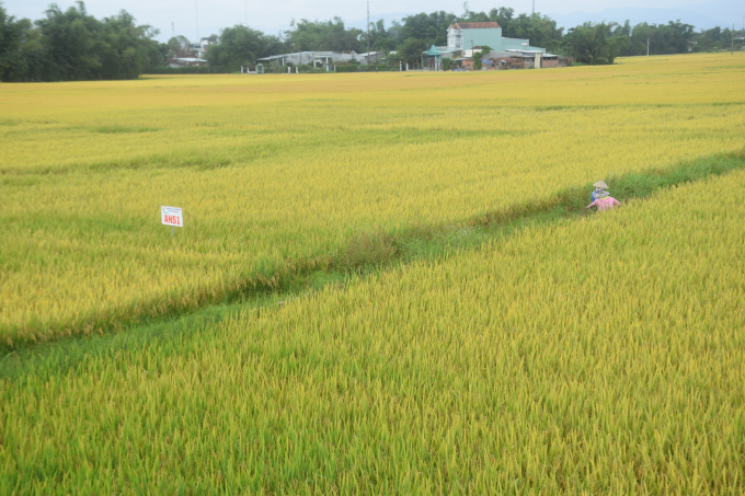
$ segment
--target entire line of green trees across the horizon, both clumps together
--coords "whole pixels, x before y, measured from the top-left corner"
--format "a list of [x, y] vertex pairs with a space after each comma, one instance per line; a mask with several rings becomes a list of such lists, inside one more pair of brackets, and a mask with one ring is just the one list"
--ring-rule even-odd
[[[367, 31], [346, 27], [340, 18], [329, 21], [302, 19], [290, 23], [282, 35], [267, 35], [244, 25], [226, 27], [211, 35], [205, 58], [210, 72], [234, 72], [251, 66], [257, 58], [291, 51], [354, 50], [391, 53], [389, 62], [415, 64], [431, 45], [447, 45], [447, 28], [456, 22], [496, 22], [505, 37], [528, 38], [534, 46], [569, 55], [588, 65], [612, 64], [619, 56], [680, 54], [729, 48], [730, 28], [714, 27], [696, 32], [679, 21], [667, 24], [584, 23], [563, 27], [547, 15], [515, 14], [500, 7], [474, 12], [463, 4], [463, 13], [445, 11], [409, 15], [386, 26], [370, 23]], [[66, 11], [51, 4], [37, 21], [8, 15], [0, 4], [0, 80], [1, 81], [77, 81], [134, 79], [162, 68], [174, 57], [194, 57], [192, 43], [176, 36], [168, 43], [153, 39], [158, 30], [137, 25], [122, 10], [98, 20], [89, 15], [79, 1]], [[734, 34], [742, 36], [742, 32]], [[368, 45], [369, 42], [369, 45]], [[741, 43], [738, 42], [738, 46]]]

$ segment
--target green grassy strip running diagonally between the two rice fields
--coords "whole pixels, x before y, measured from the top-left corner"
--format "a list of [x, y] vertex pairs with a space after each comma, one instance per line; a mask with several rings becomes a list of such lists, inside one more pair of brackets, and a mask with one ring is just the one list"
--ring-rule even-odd
[[[745, 169], [745, 149], [734, 153], [703, 157], [666, 169], [627, 173], [605, 180], [611, 184], [614, 197], [620, 201], [628, 201], [649, 197], [666, 187], [701, 181], [740, 169]], [[164, 297], [158, 301], [146, 301], [140, 304], [142, 310], [138, 312], [128, 313], [127, 308], [123, 308], [121, 311], [93, 315], [84, 322], [72, 325], [50, 324], [36, 330], [24, 328], [22, 333], [10, 328], [3, 334], [18, 337], [8, 337], [1, 342], [0, 350], [2, 354], [10, 354], [65, 337], [123, 331], [148, 320], [180, 316], [211, 304], [288, 292], [293, 287], [301, 286], [298, 284], [299, 280], [305, 280], [317, 273], [341, 276], [385, 268], [401, 261], [415, 259], [417, 256], [421, 258], [422, 252], [412, 250], [412, 245], [421, 247], [423, 244], [434, 242], [439, 245], [442, 253], [443, 245], [462, 244], [463, 237], [471, 237], [470, 245], [480, 245], [486, 239], [503, 235], [505, 227], [509, 228], [508, 233], [528, 223], [546, 223], [557, 219], [586, 216], [584, 208], [588, 204], [592, 189], [589, 184], [574, 186], [548, 198], [486, 211], [459, 222], [411, 226], [396, 231], [381, 229], [375, 232], [360, 232], [339, 252], [308, 259], [285, 261], [264, 273], [256, 272], [227, 281], [221, 287], [213, 287], [181, 299]]]

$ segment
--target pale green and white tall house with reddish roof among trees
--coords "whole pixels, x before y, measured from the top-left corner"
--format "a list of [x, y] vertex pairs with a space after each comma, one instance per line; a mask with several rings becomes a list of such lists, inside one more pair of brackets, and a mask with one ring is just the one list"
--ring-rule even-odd
[[529, 39], [505, 38], [495, 22], [458, 22], [447, 28], [449, 50], [465, 50], [489, 46], [495, 51], [527, 50], [545, 53], [546, 48], [530, 46]]

